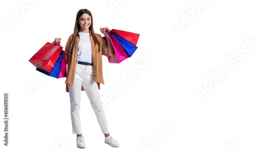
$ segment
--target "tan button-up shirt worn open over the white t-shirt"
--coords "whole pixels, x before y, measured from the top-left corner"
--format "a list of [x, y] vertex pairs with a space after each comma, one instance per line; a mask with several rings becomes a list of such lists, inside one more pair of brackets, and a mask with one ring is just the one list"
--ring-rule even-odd
[[[109, 56], [107, 42], [102, 38], [100, 34], [96, 33], [96, 36], [99, 41], [99, 45], [94, 44], [92, 32], [90, 31], [90, 40], [92, 44], [92, 55], [93, 55], [93, 69], [94, 69], [94, 80], [98, 83], [100, 89], [100, 83], [104, 84], [103, 73], [102, 73], [102, 55]], [[76, 72], [76, 61], [77, 61], [77, 52], [78, 52], [78, 43], [80, 40], [80, 35], [75, 37], [75, 46], [71, 54], [71, 42], [73, 39], [73, 34], [70, 35], [67, 45], [65, 47], [66, 59], [68, 64], [68, 74], [66, 78], [66, 92], [69, 92], [68, 84], [73, 85], [75, 72]], [[81, 90], [84, 89], [81, 87]]]

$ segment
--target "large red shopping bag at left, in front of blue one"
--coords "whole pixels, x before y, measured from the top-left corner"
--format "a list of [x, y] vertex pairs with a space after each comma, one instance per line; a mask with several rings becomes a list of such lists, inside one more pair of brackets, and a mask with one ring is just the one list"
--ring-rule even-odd
[[29, 61], [38, 69], [44, 70], [47, 73], [52, 71], [62, 47], [47, 42], [38, 52], [36, 52]]

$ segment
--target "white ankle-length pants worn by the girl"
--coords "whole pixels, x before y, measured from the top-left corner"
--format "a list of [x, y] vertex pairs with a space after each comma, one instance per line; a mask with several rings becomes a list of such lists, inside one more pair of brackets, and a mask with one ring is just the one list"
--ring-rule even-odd
[[93, 66], [76, 64], [74, 83], [73, 85], [68, 85], [73, 134], [82, 133], [79, 115], [81, 86], [83, 87], [84, 91], [86, 91], [102, 133], [109, 133], [105, 113], [100, 101], [98, 84], [94, 81]]

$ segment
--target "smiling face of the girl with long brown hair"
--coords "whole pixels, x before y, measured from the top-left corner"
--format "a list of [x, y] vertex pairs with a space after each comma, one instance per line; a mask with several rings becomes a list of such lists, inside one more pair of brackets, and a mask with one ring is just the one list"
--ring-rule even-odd
[[91, 16], [87, 13], [82, 14], [78, 18], [78, 24], [80, 25], [80, 31], [89, 33], [89, 27], [91, 26]]

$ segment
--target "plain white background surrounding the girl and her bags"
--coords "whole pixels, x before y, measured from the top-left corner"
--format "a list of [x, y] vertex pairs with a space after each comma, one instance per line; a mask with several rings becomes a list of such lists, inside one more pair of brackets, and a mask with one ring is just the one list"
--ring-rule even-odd
[[[28, 60], [55, 37], [65, 47], [83, 8], [92, 12], [96, 33], [107, 26], [140, 34], [131, 58], [112, 64], [103, 56], [100, 95], [118, 149], [256, 148], [256, 45], [241, 50], [246, 39], [256, 41], [253, 1], [22, 2], [0, 4], [1, 149], [77, 148], [65, 78], [43, 76]], [[182, 20], [178, 31], [175, 23]], [[228, 62], [238, 52], [240, 60]], [[212, 72], [223, 66], [228, 72], [217, 79]], [[214, 84], [207, 89], [210, 79]], [[114, 89], [117, 84], [121, 89]], [[198, 88], [207, 93], [200, 97]], [[4, 92], [9, 93], [9, 146], [3, 141]], [[111, 149], [86, 93], [81, 95], [86, 148]]]

